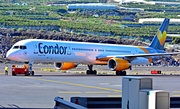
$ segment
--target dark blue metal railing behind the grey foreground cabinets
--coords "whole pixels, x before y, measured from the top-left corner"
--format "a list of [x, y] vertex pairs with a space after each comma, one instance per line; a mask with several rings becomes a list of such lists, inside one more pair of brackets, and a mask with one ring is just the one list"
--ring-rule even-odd
[[[54, 109], [121, 108], [121, 97], [71, 97], [71, 102], [55, 97]], [[170, 108], [180, 108], [180, 97], [170, 97]]]

